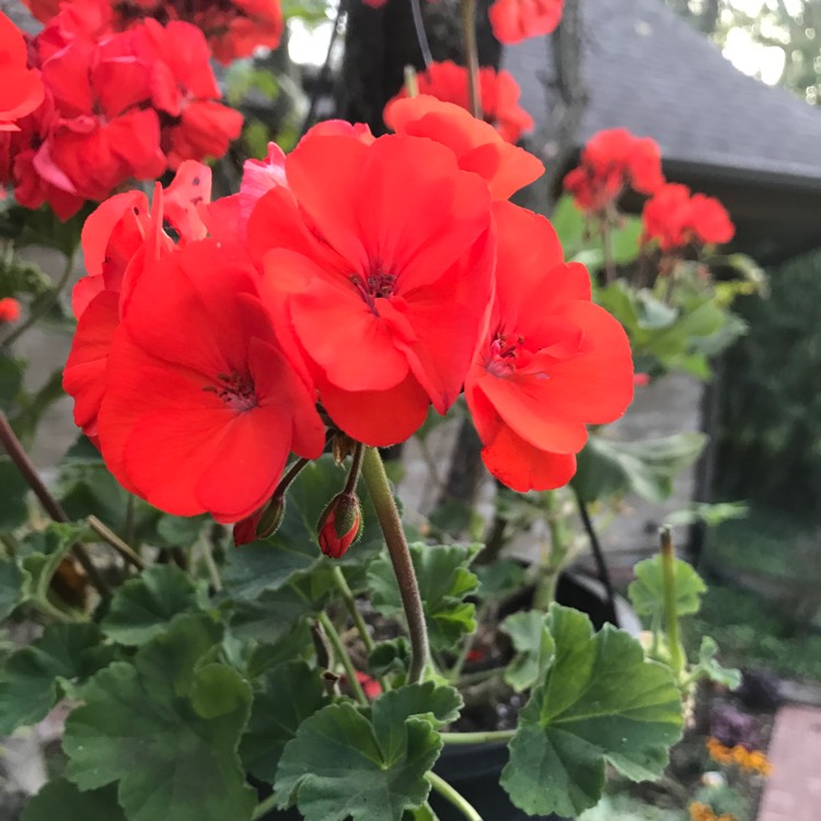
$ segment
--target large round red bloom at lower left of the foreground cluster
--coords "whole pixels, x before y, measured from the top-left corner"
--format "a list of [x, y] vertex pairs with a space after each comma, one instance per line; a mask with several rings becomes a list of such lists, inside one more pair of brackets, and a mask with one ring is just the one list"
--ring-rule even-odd
[[313, 389], [284, 355], [244, 253], [213, 240], [142, 274], [108, 355], [97, 427], [127, 488], [176, 516], [250, 516], [292, 450], [325, 429]]

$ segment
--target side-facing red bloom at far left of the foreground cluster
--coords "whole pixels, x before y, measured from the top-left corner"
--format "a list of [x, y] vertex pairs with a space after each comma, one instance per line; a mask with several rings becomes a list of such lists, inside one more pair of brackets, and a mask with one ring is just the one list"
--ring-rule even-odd
[[71, 294], [78, 324], [62, 385], [74, 400], [74, 423], [93, 441], [108, 350], [131, 291], [147, 265], [174, 250], [164, 224], [176, 232], [181, 245], [205, 236], [197, 208], [210, 193], [210, 169], [183, 163], [164, 196], [157, 186], [152, 211], [146, 195], [135, 190], [107, 199], [85, 220], [82, 248], [88, 276]]

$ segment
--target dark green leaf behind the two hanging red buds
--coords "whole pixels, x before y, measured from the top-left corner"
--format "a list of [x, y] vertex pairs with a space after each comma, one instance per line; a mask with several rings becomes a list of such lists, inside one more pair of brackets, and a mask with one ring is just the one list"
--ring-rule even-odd
[[[222, 575], [229, 595], [254, 600], [265, 591], [279, 590], [331, 559], [320, 552], [316, 521], [327, 502], [342, 489], [346, 473], [326, 454], [302, 470], [288, 490], [285, 518], [277, 532], [243, 545], [228, 556]], [[377, 514], [367, 495], [362, 500], [362, 535], [336, 564], [356, 567], [367, 563], [383, 544]]]

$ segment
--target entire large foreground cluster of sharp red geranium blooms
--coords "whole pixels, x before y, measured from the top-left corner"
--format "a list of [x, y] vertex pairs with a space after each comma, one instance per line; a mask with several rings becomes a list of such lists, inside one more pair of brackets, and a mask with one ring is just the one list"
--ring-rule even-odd
[[[507, 201], [541, 164], [429, 96], [389, 118], [394, 135], [331, 122], [271, 147], [213, 203], [187, 163], [150, 209], [130, 193], [91, 216], [65, 385], [128, 489], [254, 517], [326, 426], [389, 446], [462, 390], [492, 473], [546, 489], [573, 475], [585, 425], [624, 412], [624, 331], [550, 222]], [[331, 552], [355, 519], [324, 522]]]

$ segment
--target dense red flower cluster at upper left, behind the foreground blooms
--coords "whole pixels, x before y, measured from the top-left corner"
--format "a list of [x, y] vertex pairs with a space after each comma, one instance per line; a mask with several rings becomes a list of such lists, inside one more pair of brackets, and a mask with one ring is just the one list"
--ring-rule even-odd
[[242, 117], [217, 102], [209, 57], [188, 23], [115, 32], [107, 0], [62, 5], [28, 48], [45, 99], [18, 131], [0, 132], [0, 184], [67, 219], [128, 180], [221, 157]]

